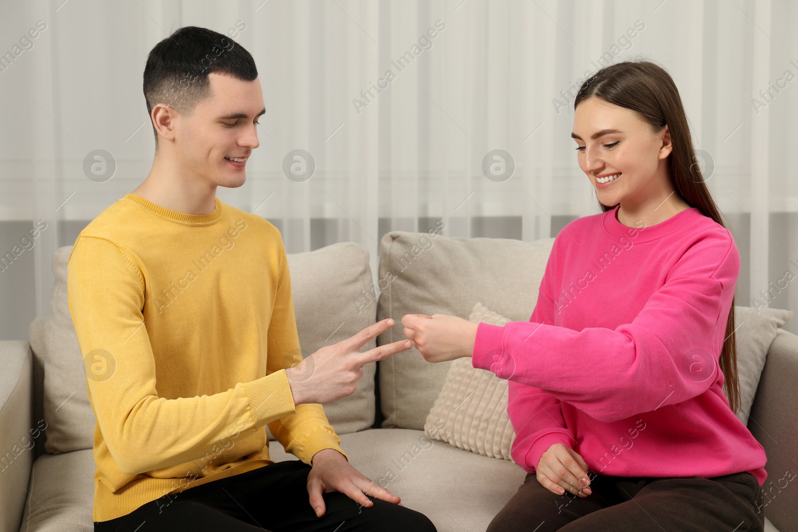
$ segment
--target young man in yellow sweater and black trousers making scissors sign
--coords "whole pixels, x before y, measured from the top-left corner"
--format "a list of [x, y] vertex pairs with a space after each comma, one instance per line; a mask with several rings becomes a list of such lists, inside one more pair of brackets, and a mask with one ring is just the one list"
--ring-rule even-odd
[[[149, 53], [147, 179], [78, 236], [69, 311], [97, 424], [94, 530], [435, 530], [352, 467], [321, 403], [354, 391], [385, 320], [299, 349], [279, 231], [240, 187], [265, 112], [250, 53], [177, 30]], [[299, 460], [273, 463], [265, 425]], [[367, 496], [367, 494], [369, 496]]]

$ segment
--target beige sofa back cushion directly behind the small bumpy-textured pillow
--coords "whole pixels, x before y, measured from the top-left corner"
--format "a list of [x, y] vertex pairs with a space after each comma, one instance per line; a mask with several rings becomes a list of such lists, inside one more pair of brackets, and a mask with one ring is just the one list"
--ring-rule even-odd
[[[475, 301], [501, 309], [512, 321], [527, 321], [554, 238], [452, 238], [392, 231], [380, 242], [377, 321], [395, 325], [377, 345], [405, 339], [407, 313], [449, 314], [468, 319]], [[451, 362], [429, 364], [411, 348], [379, 362], [383, 428], [424, 430]]]

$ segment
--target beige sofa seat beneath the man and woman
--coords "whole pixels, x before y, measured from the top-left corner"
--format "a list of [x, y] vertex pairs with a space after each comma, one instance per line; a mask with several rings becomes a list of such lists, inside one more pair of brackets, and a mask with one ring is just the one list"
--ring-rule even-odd
[[[421, 431], [373, 429], [341, 440], [358, 471], [375, 482], [385, 479], [382, 484], [402, 504], [427, 515], [439, 532], [483, 532], [525, 475], [514, 463], [433, 442]], [[297, 459], [278, 442], [269, 445], [275, 461]], [[41, 455], [28, 493], [20, 532], [92, 532], [92, 451]], [[764, 532], [779, 531], [765, 519]]]

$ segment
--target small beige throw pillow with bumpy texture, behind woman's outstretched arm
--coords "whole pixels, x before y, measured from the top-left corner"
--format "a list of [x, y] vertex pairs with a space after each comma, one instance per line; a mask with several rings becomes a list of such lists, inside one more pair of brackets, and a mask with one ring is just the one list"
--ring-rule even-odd
[[[490, 325], [511, 321], [481, 303], [474, 305], [468, 320]], [[452, 362], [444, 387], [429, 411], [424, 432], [429, 438], [466, 451], [515, 462], [510, 446], [516, 433], [507, 413], [507, 400], [507, 380], [474, 368], [470, 357], [458, 358]]]

